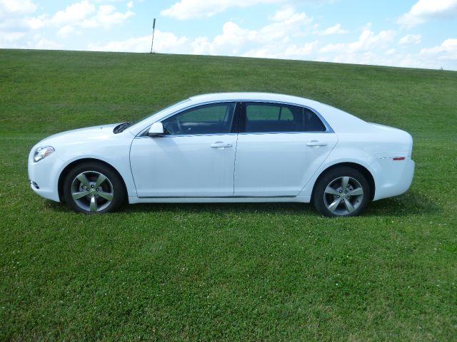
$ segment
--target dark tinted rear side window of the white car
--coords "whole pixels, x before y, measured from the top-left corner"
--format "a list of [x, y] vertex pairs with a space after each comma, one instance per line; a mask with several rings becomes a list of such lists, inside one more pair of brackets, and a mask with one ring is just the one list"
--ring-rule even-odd
[[323, 132], [321, 119], [307, 108], [276, 103], [246, 103], [246, 133]]

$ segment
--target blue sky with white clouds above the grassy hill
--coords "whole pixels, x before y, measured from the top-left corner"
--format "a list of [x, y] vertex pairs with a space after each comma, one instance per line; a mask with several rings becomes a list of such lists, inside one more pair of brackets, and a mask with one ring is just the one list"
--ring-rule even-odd
[[457, 0], [0, 0], [0, 48], [457, 71]]

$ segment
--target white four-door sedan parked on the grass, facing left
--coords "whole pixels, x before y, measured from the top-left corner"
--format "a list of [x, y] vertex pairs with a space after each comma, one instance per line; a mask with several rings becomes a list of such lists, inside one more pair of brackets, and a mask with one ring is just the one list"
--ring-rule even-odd
[[315, 100], [196, 95], [136, 123], [51, 135], [29, 154], [31, 189], [76, 212], [124, 202], [312, 202], [327, 217], [411, 186], [413, 139]]

